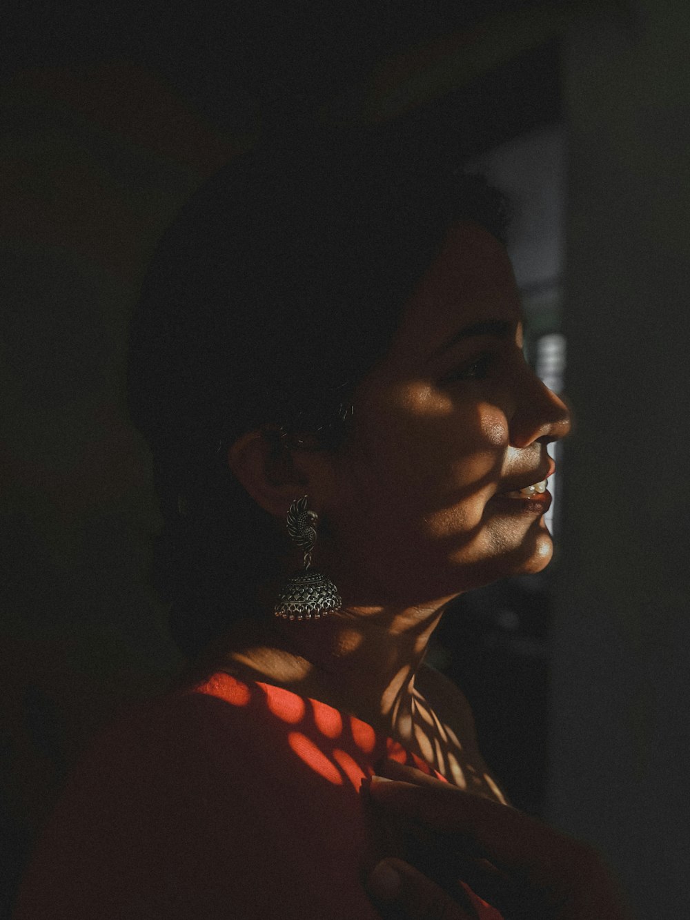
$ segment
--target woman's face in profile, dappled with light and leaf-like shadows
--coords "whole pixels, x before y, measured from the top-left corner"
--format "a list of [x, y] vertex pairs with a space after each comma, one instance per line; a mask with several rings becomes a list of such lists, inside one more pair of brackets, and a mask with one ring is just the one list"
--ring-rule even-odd
[[516, 490], [550, 474], [546, 445], [569, 412], [522, 344], [505, 249], [457, 225], [358, 388], [333, 461], [318, 563], [350, 603], [422, 604], [546, 566], [550, 496]]

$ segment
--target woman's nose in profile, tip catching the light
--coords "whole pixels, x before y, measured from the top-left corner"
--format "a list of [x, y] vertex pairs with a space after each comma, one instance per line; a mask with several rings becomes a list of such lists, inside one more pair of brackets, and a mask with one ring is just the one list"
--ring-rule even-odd
[[513, 447], [548, 444], [570, 431], [570, 411], [563, 400], [527, 367], [518, 382], [515, 411], [510, 420]]

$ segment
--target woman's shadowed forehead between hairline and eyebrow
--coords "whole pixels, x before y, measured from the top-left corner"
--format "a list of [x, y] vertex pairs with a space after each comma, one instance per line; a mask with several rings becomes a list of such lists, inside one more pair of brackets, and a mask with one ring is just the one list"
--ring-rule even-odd
[[408, 299], [390, 357], [424, 360], [461, 327], [488, 319], [519, 322], [520, 297], [505, 248], [467, 221], [451, 228]]

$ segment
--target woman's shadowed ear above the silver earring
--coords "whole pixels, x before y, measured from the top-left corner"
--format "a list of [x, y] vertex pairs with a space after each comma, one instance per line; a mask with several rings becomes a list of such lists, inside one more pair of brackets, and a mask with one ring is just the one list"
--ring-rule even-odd
[[295, 496], [306, 491], [305, 477], [295, 468], [290, 452], [276, 451], [261, 431], [247, 431], [237, 438], [227, 460], [249, 495], [274, 517], [284, 518]]

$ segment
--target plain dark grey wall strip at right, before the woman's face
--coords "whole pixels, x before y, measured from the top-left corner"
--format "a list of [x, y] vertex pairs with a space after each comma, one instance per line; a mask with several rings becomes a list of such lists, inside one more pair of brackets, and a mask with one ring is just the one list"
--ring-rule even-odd
[[690, 7], [570, 36], [567, 445], [548, 817], [688, 916]]

